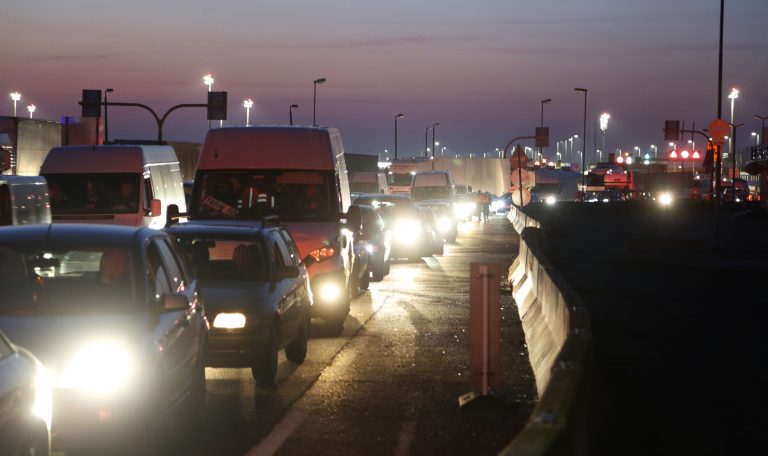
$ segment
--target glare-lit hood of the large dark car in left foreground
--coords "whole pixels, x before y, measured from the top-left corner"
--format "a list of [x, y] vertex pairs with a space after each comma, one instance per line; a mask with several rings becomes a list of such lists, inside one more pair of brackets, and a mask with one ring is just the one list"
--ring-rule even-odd
[[96, 341], [117, 341], [141, 350], [144, 329], [146, 322], [138, 314], [0, 315], [0, 330], [54, 370], [63, 368], [81, 347]]

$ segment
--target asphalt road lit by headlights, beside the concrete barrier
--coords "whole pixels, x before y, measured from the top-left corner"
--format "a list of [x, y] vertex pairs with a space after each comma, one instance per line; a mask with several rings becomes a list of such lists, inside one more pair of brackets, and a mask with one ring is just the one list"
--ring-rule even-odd
[[518, 252], [509, 222], [468, 222], [443, 256], [397, 262], [353, 300], [344, 331], [313, 321], [306, 361], [280, 354], [278, 389], [248, 369], [206, 369], [206, 410], [194, 431], [166, 437], [163, 454], [492, 455], [524, 426], [535, 400], [525, 337], [502, 282], [502, 386], [464, 408], [471, 390], [469, 264]]

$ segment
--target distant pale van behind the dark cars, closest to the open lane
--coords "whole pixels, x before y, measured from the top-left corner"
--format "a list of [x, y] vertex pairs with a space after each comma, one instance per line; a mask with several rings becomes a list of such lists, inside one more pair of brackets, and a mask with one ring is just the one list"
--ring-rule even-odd
[[413, 175], [411, 201], [435, 212], [438, 229], [448, 242], [456, 241], [458, 230], [454, 208], [455, 192], [450, 171], [421, 171]]

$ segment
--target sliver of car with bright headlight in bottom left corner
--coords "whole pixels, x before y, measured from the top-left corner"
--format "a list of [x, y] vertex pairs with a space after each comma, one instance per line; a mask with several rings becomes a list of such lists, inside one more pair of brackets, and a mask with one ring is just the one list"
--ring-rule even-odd
[[42, 363], [0, 331], [0, 454], [49, 454], [49, 380]]

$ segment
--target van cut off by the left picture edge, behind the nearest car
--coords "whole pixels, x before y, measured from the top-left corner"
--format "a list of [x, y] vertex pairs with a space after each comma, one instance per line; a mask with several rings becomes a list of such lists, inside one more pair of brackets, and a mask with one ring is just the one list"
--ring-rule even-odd
[[45, 178], [0, 174], [0, 226], [33, 223], [51, 223]]

